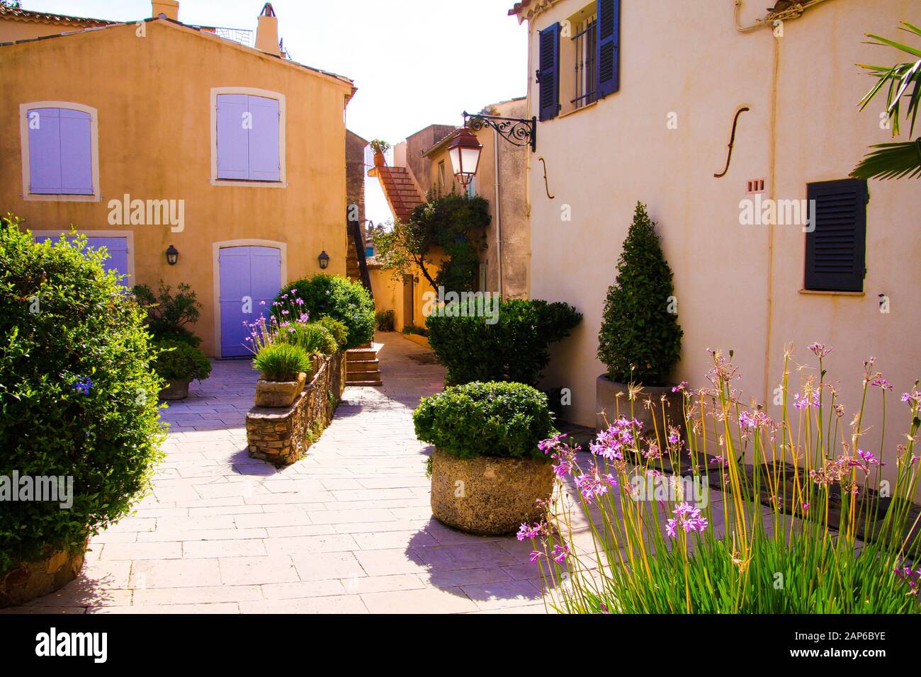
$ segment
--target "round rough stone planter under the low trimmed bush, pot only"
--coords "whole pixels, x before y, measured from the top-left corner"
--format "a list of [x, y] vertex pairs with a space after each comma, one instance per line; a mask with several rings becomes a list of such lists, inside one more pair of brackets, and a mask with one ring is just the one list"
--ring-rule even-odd
[[432, 514], [449, 527], [480, 535], [518, 531], [542, 518], [537, 500], [554, 490], [550, 463], [532, 459], [458, 459], [432, 454]]

